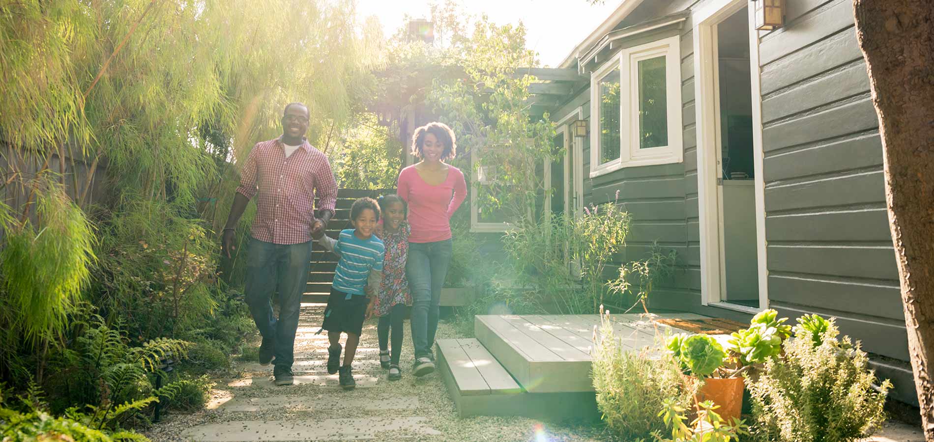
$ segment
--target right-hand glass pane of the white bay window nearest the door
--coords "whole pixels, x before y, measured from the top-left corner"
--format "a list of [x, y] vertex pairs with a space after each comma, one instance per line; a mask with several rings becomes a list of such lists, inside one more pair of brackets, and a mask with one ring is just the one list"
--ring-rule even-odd
[[639, 61], [639, 148], [668, 145], [665, 57]]

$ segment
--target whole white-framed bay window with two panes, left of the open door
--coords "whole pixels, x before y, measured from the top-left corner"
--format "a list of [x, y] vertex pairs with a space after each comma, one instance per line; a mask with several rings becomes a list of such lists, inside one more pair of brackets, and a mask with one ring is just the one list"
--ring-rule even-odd
[[590, 177], [681, 162], [678, 36], [622, 49], [591, 76]]

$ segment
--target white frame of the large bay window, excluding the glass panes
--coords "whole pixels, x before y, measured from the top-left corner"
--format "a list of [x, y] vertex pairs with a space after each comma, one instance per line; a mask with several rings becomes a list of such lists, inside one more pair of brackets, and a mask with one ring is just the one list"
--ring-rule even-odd
[[[668, 145], [639, 148], [639, 61], [665, 57], [665, 97], [668, 109]], [[619, 159], [600, 164], [600, 85], [602, 76], [619, 68]], [[684, 161], [681, 124], [681, 38], [678, 35], [624, 48], [590, 76], [590, 177], [627, 167]]]

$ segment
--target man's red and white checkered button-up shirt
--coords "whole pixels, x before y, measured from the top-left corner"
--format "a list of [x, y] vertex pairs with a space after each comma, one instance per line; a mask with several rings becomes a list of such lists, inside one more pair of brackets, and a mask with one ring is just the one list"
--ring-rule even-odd
[[334, 213], [337, 183], [331, 164], [304, 139], [302, 147], [289, 158], [278, 138], [257, 143], [241, 173], [236, 191], [248, 199], [259, 194], [250, 230], [257, 240], [276, 244], [309, 242], [314, 209]]

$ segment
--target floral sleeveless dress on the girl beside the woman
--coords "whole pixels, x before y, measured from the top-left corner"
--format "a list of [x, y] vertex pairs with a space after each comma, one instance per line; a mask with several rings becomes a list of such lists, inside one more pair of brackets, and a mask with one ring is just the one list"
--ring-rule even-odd
[[379, 286], [374, 312], [376, 316], [389, 314], [396, 304], [412, 305], [412, 295], [405, 278], [405, 259], [408, 256], [408, 237], [412, 229], [407, 222], [399, 223], [399, 231], [383, 234], [386, 257], [383, 259], [383, 283]]

